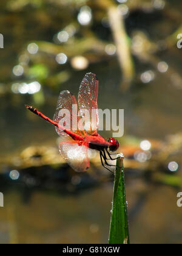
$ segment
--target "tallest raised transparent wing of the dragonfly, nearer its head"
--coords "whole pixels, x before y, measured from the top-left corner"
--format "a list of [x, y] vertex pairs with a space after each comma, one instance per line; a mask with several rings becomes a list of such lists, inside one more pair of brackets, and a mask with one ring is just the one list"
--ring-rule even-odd
[[85, 129], [91, 135], [98, 130], [97, 96], [98, 79], [95, 74], [87, 73], [79, 87], [78, 104], [79, 112], [85, 119]]

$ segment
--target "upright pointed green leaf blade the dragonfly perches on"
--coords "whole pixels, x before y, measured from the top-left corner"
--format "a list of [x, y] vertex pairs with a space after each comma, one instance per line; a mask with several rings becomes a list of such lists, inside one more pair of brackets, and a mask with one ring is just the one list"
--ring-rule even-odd
[[[121, 166], [121, 167], [120, 167]], [[116, 161], [109, 244], [129, 244], [123, 157]]]

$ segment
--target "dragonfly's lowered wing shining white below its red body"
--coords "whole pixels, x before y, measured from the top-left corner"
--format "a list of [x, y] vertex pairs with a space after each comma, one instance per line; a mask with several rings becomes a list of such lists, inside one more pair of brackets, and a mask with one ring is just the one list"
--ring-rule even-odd
[[89, 143], [83, 141], [61, 141], [59, 152], [66, 162], [78, 172], [86, 171], [90, 167], [88, 157]]

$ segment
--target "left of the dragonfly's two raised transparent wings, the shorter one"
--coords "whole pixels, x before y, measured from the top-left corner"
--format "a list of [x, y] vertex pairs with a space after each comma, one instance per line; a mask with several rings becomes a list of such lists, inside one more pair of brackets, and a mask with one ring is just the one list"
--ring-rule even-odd
[[[66, 112], [66, 114], [64, 114], [64, 112]], [[78, 105], [75, 96], [69, 91], [61, 91], [53, 120], [61, 126], [64, 126], [67, 130], [72, 130], [78, 135], [84, 136], [86, 135], [86, 131], [84, 131], [84, 129], [82, 129], [82, 131], [78, 130], [80, 117], [77, 116], [77, 114]], [[58, 127], [55, 127], [55, 129], [59, 136], [64, 137], [65, 140], [70, 140], [70, 136], [61, 129]]]

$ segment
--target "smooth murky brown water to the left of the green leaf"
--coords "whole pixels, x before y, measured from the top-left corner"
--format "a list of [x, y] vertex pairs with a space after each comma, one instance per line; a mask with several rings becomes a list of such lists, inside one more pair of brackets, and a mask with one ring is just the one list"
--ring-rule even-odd
[[[21, 194], [8, 193], [5, 201], [12, 201], [9, 207], [12, 207], [13, 224], [16, 226], [16, 238], [13, 239], [19, 243], [107, 242], [111, 190], [112, 187], [103, 187], [66, 197], [37, 191], [28, 204], [22, 204]], [[7, 207], [1, 210], [1, 223], [4, 225], [1, 241], [8, 243], [11, 219], [7, 219], [6, 211]]]

